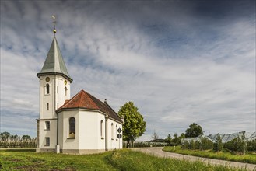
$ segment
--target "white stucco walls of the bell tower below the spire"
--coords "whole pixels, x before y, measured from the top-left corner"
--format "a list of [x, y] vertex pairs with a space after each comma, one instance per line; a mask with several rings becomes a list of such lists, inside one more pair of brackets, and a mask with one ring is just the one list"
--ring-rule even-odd
[[[47, 82], [46, 78], [50, 81]], [[67, 84], [65, 85], [65, 80]], [[55, 86], [56, 83], [56, 86]], [[50, 92], [46, 93], [46, 85], [49, 84]], [[65, 96], [65, 86], [68, 91]], [[70, 99], [70, 82], [61, 75], [40, 76], [40, 116], [39, 116], [39, 142], [38, 148], [55, 148], [57, 145], [57, 114], [55, 110]], [[49, 110], [47, 110], [47, 103]], [[55, 104], [55, 105], [54, 105]], [[45, 121], [50, 121], [50, 130], [45, 130]], [[45, 146], [45, 138], [50, 138], [50, 146]]]

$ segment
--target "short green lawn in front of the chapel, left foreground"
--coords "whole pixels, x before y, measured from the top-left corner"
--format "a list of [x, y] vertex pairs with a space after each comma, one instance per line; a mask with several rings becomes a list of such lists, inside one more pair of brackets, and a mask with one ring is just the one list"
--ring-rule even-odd
[[1, 150], [3, 170], [115, 170], [105, 159], [109, 153], [99, 155], [63, 155], [36, 153], [35, 150]]

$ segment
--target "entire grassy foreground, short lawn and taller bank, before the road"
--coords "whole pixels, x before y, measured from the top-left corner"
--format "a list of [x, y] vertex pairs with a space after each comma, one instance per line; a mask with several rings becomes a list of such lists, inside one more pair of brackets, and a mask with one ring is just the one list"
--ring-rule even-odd
[[0, 150], [0, 167], [1, 170], [245, 170], [162, 159], [125, 149], [97, 155], [36, 153], [34, 149]]

